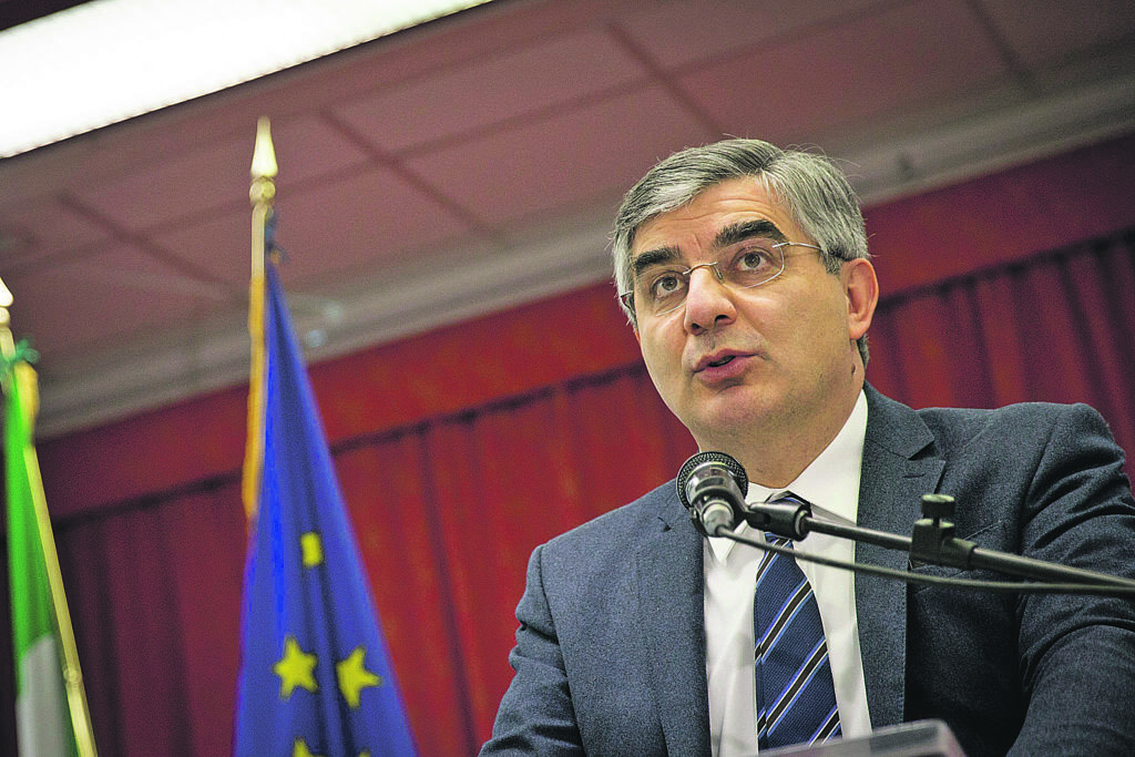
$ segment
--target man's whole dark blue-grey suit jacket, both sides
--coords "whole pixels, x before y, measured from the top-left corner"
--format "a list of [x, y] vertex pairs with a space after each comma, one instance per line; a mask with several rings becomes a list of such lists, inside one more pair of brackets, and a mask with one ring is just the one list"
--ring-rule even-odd
[[[1135, 501], [1095, 411], [866, 392], [860, 525], [909, 535], [922, 495], [949, 494], [981, 547], [1135, 578]], [[538, 547], [482, 754], [709, 755], [701, 554], [673, 482]], [[972, 757], [1135, 755], [1135, 600], [858, 575], [856, 603], [874, 726], [943, 718]]]

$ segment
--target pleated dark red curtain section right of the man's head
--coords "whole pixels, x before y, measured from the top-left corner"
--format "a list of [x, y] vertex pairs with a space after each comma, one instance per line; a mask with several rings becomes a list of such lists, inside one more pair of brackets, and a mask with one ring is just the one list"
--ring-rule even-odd
[[884, 394], [916, 407], [1085, 402], [1130, 460], [1135, 234], [884, 298], [871, 345], [867, 377]]

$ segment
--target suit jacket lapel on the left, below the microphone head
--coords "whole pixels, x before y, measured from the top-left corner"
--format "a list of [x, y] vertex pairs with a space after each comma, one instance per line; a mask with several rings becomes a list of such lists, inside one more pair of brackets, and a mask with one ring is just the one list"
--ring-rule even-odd
[[666, 750], [708, 755], [703, 539], [676, 495], [659, 499], [661, 529], [636, 561], [642, 665], [650, 671]]

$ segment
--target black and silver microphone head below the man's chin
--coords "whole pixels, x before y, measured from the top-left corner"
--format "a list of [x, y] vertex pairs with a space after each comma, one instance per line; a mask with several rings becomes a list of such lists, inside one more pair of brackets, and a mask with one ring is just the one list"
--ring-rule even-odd
[[717, 529], [732, 529], [743, 518], [749, 477], [724, 452], [693, 455], [682, 463], [674, 483], [693, 528], [703, 536], [717, 536]]

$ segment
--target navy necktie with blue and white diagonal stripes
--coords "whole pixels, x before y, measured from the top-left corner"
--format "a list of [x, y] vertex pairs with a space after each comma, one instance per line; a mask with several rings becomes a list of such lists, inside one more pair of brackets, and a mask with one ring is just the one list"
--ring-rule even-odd
[[[765, 539], [792, 547], [791, 541], [772, 533]], [[839, 737], [840, 714], [819, 608], [792, 557], [764, 554], [757, 567], [753, 619], [758, 748]]]

